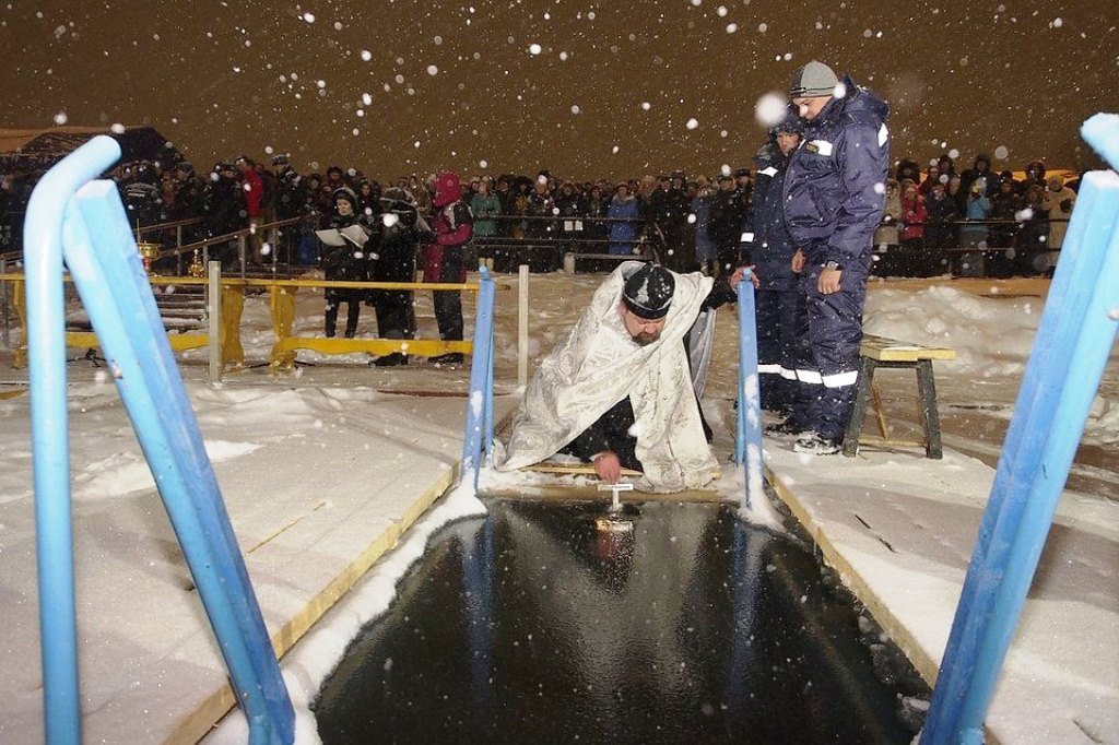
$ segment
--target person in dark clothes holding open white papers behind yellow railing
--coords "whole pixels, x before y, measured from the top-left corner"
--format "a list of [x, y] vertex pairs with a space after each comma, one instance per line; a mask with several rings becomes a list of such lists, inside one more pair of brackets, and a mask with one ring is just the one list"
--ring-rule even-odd
[[[365, 246], [368, 241], [368, 228], [358, 216], [357, 195], [349, 187], [335, 189], [335, 214], [330, 216], [327, 229], [344, 228], [360, 225], [366, 234], [365, 239], [355, 241], [342, 236], [340, 246], [322, 246], [322, 272], [332, 282], [364, 282], [368, 279]], [[323, 293], [327, 300], [326, 334], [333, 337], [338, 324], [338, 307], [346, 303], [346, 338], [352, 339], [357, 333], [358, 318], [361, 315], [361, 299], [365, 291], [356, 287], [327, 287]]]

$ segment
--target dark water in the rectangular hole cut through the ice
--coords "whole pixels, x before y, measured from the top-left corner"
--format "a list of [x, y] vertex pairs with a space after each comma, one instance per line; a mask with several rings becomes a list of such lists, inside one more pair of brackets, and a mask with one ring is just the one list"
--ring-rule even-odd
[[325, 743], [909, 743], [852, 607], [734, 508], [495, 501], [449, 527], [317, 705]]

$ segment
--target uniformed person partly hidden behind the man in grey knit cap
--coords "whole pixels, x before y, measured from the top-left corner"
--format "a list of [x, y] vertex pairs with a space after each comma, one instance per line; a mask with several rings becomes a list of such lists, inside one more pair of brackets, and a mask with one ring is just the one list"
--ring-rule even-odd
[[789, 157], [800, 144], [802, 129], [797, 112], [790, 109], [770, 129], [769, 141], [754, 155], [753, 230], [746, 234], [761, 282], [755, 303], [761, 405], [779, 413], [791, 413], [798, 393], [793, 351], [800, 294], [792, 273], [796, 247], [784, 224], [782, 191]]

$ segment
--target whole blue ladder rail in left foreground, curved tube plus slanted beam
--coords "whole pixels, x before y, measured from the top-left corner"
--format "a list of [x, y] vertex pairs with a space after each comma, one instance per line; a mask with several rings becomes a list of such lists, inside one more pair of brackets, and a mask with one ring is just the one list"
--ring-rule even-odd
[[25, 229], [47, 742], [81, 742], [65, 256], [198, 587], [248, 720], [250, 742], [291, 743], [294, 710], [128, 217], [115, 185], [91, 180], [120, 154], [115, 140], [97, 136], [65, 158], [32, 192]]

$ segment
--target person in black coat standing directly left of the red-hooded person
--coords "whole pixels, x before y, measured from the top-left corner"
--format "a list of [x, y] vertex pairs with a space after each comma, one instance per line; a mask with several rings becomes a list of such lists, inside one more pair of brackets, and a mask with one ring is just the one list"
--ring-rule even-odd
[[[398, 187], [385, 190], [367, 244], [369, 279], [374, 282], [415, 282], [416, 254], [434, 236], [420, 217], [415, 198]], [[411, 290], [373, 290], [367, 301], [376, 309], [377, 336], [382, 339], [414, 339], [415, 311]], [[376, 367], [407, 365], [405, 352], [378, 357]]]

